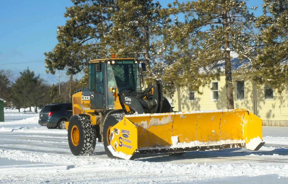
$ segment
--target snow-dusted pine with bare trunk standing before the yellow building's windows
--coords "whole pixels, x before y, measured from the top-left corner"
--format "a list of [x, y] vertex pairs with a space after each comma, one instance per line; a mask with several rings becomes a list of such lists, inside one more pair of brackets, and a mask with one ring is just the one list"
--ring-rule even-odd
[[[255, 38], [254, 16], [249, 14], [245, 1], [175, 1], [169, 7], [162, 10], [164, 15], [175, 15], [174, 24], [164, 29], [167, 51], [173, 53], [165, 70], [166, 80], [201, 93], [200, 87], [211, 87], [211, 81], [219, 80], [219, 74], [225, 72], [227, 108], [233, 109], [230, 54], [236, 52], [239, 61], [249, 58]], [[183, 14], [181, 22], [177, 16]]]

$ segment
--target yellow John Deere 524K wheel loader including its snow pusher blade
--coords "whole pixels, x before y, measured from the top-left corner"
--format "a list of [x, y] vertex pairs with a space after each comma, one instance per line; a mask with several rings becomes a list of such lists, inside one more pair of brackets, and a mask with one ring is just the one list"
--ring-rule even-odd
[[264, 144], [262, 120], [245, 109], [173, 112], [160, 80], [143, 89], [146, 67], [136, 58], [90, 60], [88, 68], [88, 89], [74, 93], [65, 123], [74, 155], [92, 154], [97, 138], [110, 158], [130, 160]]

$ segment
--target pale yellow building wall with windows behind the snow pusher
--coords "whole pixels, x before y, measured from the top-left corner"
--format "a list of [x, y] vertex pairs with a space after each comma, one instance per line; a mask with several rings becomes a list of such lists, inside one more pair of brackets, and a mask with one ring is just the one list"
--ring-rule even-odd
[[[288, 127], [288, 90], [279, 93], [269, 84], [255, 85], [248, 78], [241, 78], [235, 71], [233, 77], [234, 108], [245, 108], [262, 118], [263, 126]], [[203, 94], [189, 87], [173, 86], [173, 95], [166, 98], [174, 111], [227, 109], [225, 74], [219, 81], [212, 81], [211, 88], [203, 88]], [[200, 89], [201, 91], [201, 89]]]

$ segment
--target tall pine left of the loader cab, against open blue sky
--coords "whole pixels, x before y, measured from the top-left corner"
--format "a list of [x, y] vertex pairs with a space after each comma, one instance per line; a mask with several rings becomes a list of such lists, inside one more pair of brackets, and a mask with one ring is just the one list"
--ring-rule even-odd
[[66, 8], [64, 26], [58, 26], [58, 44], [53, 51], [44, 53], [47, 72], [66, 70], [70, 76], [70, 91], [73, 75], [84, 68], [91, 58], [105, 57], [107, 51], [101, 42], [103, 33], [108, 32], [110, 14], [108, 10], [113, 0], [74, 0], [74, 6]]

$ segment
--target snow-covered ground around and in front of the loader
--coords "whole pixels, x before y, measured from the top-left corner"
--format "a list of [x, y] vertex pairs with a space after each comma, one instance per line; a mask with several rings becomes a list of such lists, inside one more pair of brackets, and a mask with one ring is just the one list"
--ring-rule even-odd
[[5, 110], [0, 122], [0, 183], [288, 183], [288, 127], [263, 127], [265, 145], [146, 155], [135, 160], [107, 157], [103, 143], [90, 156], [74, 156], [67, 131], [47, 129], [38, 115]]

